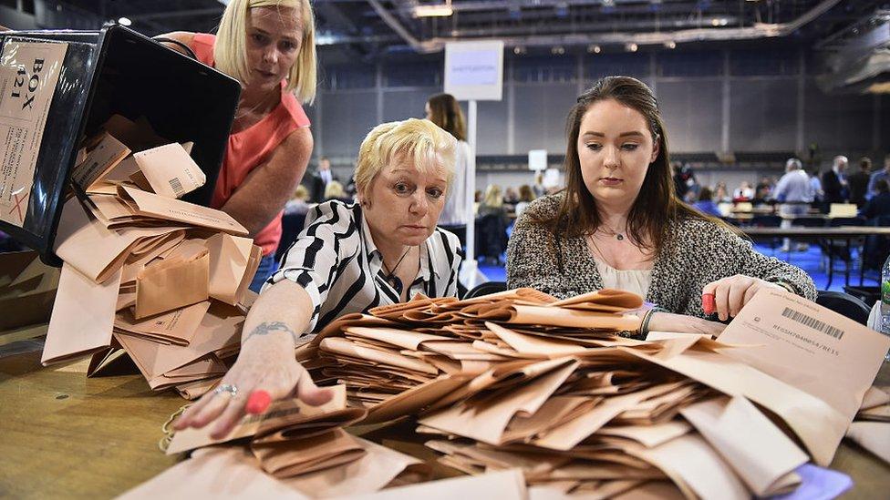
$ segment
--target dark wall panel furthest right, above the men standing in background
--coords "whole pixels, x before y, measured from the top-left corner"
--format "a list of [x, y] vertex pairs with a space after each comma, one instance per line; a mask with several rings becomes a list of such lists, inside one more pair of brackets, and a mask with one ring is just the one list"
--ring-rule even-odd
[[820, 150], [864, 150], [872, 147], [874, 101], [872, 96], [826, 96], [808, 79], [805, 94], [803, 138]]

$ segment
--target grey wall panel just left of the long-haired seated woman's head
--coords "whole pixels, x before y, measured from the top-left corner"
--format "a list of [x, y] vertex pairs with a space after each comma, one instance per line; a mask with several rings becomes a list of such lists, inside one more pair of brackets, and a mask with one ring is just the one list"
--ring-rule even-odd
[[565, 150], [565, 117], [574, 106], [575, 92], [574, 84], [516, 85], [513, 103], [516, 154], [529, 149]]

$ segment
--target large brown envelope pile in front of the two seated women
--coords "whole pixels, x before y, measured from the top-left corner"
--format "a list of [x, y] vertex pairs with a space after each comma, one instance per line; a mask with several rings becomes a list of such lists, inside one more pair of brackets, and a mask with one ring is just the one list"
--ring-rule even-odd
[[[787, 311], [761, 316], [757, 308], [803, 301], [771, 293], [752, 301], [751, 321], [790, 321]], [[366, 422], [418, 415], [440, 461], [468, 474], [519, 468], [554, 495], [749, 498], [792, 491], [802, 481], [795, 470], [811, 460], [831, 463], [880, 367], [877, 344], [887, 343], [861, 325], [835, 323], [843, 332], [827, 332], [847, 342], [847, 353], [856, 344], [873, 352], [834, 356], [839, 370], [856, 373], [819, 390], [801, 383], [815, 377], [794, 372], [811, 370], [795, 363], [810, 354], [794, 347], [774, 349], [789, 361], [784, 370], [747, 360], [761, 349], [748, 327], [728, 329], [721, 342], [616, 335], [636, 329], [640, 303], [620, 291], [569, 301], [529, 290], [418, 297], [335, 321], [297, 358], [316, 382], [346, 383], [350, 400], [367, 407]], [[817, 317], [833, 314], [812, 307]]]

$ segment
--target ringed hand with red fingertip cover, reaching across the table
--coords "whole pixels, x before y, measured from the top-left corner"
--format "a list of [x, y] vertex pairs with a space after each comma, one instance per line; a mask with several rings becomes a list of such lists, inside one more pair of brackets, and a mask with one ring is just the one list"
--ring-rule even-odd
[[263, 335], [264, 338], [246, 342], [238, 361], [223, 377], [222, 383], [236, 387], [237, 393], [211, 391], [204, 394], [182, 413], [173, 424], [174, 429], [202, 428], [215, 422], [211, 437], [223, 438], [243, 417], [247, 400], [254, 391], [269, 393], [273, 401], [292, 396], [314, 406], [330, 401], [330, 391], [319, 389], [305, 368], [296, 361], [293, 341], [282, 334], [284, 331], [278, 331], [286, 327], [281, 323], [272, 323], [271, 326], [268, 326], [270, 323], [262, 323], [257, 329], [264, 325], [277, 334]]

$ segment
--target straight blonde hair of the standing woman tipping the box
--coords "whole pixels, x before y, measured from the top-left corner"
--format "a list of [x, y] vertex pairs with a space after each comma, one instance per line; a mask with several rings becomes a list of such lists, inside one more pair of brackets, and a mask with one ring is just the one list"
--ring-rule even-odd
[[309, 0], [232, 0], [226, 5], [216, 33], [213, 58], [216, 68], [244, 83], [247, 67], [247, 16], [258, 7], [294, 8], [300, 11], [303, 39], [300, 53], [287, 76], [285, 90], [293, 92], [303, 104], [316, 98], [316, 17]]

